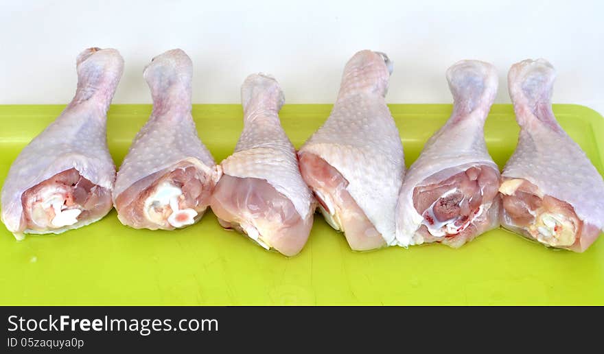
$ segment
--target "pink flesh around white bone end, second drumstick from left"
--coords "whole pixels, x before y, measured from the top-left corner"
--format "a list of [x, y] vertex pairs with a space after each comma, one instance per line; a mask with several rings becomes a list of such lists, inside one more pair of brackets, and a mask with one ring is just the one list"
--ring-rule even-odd
[[[146, 185], [148, 179], [154, 180], [154, 182], [141, 191], [138, 185]], [[155, 209], [156, 212], [162, 213], [163, 221], [159, 224], [148, 220], [143, 210], [147, 198], [152, 196], [157, 187], [163, 184], [163, 182], [169, 182], [183, 191], [182, 197], [178, 201], [179, 209], [194, 209], [198, 213], [195, 221], [202, 217], [209, 205], [213, 182], [198, 167], [190, 163], [181, 163], [171, 172], [164, 173], [163, 175], [152, 174], [135, 182], [117, 196], [115, 199], [115, 209], [117, 209], [120, 220], [133, 228], [173, 230], [174, 226], [167, 221], [168, 217], [172, 214], [170, 205]]]

